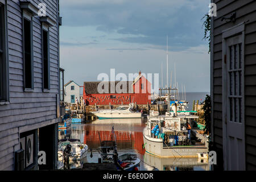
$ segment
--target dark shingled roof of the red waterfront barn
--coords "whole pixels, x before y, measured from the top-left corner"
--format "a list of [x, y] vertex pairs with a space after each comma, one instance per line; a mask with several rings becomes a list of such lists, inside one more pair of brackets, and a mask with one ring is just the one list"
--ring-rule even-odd
[[[115, 88], [116, 88], [117, 84], [120, 83], [121, 89], [122, 89], [122, 85], [126, 84], [126, 88], [127, 88], [126, 93], [133, 93], [133, 81], [106, 81], [106, 82], [103, 82], [103, 83], [106, 83], [109, 85], [109, 93], [110, 93], [110, 84], [112, 84], [113, 82], [115, 84]], [[86, 94], [100, 94], [97, 89], [98, 85], [100, 83], [101, 83], [101, 81], [84, 82], [85, 93]], [[130, 88], [130, 90], [129, 90], [129, 88]], [[117, 94], [116, 91], [117, 90], [115, 90], [115, 94]]]

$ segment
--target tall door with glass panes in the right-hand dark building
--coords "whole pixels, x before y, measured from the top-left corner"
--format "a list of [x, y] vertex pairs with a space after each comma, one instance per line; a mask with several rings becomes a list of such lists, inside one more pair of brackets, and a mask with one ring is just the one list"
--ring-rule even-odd
[[224, 168], [245, 170], [244, 66], [241, 34], [224, 39]]

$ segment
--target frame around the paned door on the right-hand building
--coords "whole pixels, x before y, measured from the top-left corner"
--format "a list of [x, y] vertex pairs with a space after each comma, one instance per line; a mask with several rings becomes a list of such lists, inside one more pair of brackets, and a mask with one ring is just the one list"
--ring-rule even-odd
[[[240, 23], [237, 26], [234, 26], [232, 28], [228, 28], [227, 30], [222, 31], [222, 147], [223, 147], [223, 160], [224, 160], [224, 170], [228, 170], [228, 151], [227, 151], [227, 68], [226, 68], [226, 54], [227, 54], [227, 50], [226, 50], [226, 42], [228, 38], [232, 38], [233, 36], [236, 36], [238, 34], [242, 35], [242, 49], [243, 49], [243, 60], [242, 60], [242, 75], [243, 75], [243, 80], [241, 80], [241, 84], [242, 84], [242, 90], [241, 90], [241, 94], [242, 94], [242, 127], [243, 129], [245, 129], [245, 92], [244, 92], [244, 88], [245, 88], [245, 80], [244, 80], [244, 69], [245, 69], [245, 23]], [[245, 167], [245, 130], [243, 130], [243, 136], [242, 136], [242, 143], [243, 143], [243, 170], [246, 169]]]

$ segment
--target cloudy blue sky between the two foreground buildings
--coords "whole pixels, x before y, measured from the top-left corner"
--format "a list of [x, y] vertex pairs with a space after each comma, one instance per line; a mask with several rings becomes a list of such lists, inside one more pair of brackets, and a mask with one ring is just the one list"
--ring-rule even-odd
[[[209, 92], [210, 55], [203, 40], [208, 0], [60, 0], [60, 67], [83, 85], [115, 74], [159, 73], [162, 86]], [[172, 75], [172, 80], [171, 80]], [[154, 85], [153, 85], [154, 87]]]

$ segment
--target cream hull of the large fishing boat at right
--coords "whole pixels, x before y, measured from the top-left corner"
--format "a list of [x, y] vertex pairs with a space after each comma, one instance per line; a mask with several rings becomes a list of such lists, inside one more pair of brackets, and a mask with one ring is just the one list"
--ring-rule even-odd
[[163, 147], [163, 140], [150, 138], [150, 130], [143, 130], [143, 142], [146, 152], [160, 158], [198, 158], [198, 153], [208, 152], [205, 146]]

